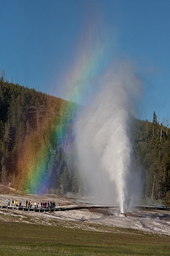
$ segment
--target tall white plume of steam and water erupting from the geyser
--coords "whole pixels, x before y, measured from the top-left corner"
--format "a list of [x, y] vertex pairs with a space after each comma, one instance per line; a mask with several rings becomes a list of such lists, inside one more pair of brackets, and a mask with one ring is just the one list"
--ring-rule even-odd
[[139, 183], [133, 169], [131, 128], [141, 82], [121, 63], [100, 81], [102, 88], [76, 123], [80, 170], [92, 190], [111, 194], [126, 213]]

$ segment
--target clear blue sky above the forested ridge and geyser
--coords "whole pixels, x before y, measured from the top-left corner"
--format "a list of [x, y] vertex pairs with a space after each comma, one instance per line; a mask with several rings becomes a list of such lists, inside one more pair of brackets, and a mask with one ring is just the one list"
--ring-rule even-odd
[[[170, 117], [169, 0], [0, 0], [0, 70], [9, 82], [69, 98], [94, 95], [113, 63], [143, 81], [137, 117]], [[99, 79], [98, 79], [99, 80]], [[78, 84], [83, 84], [82, 93]]]

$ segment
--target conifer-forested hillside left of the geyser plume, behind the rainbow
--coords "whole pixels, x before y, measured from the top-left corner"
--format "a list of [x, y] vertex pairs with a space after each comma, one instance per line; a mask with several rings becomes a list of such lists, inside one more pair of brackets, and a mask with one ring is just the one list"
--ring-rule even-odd
[[[0, 80], [0, 178], [31, 193], [74, 187], [76, 105]], [[71, 148], [71, 150], [70, 150]]]

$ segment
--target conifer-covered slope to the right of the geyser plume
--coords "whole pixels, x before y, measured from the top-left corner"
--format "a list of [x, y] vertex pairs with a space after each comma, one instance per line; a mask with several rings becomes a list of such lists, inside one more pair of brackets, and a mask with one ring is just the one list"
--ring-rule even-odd
[[170, 129], [168, 119], [158, 123], [135, 120], [133, 129], [137, 165], [143, 171], [145, 194], [160, 199], [170, 191]]

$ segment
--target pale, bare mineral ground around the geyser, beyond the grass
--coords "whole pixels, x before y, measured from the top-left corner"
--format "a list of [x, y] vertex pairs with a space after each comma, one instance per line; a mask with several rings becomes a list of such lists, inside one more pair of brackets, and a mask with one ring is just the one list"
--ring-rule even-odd
[[[25, 206], [26, 200], [31, 200], [33, 203], [35, 201], [55, 201], [56, 207], [82, 206], [82, 204], [92, 205], [91, 203], [88, 204], [88, 200], [90, 202], [91, 199], [90, 197], [72, 198], [68, 196], [31, 194], [0, 194], [0, 205], [7, 205], [8, 198], [11, 201], [12, 199], [21, 200], [23, 206]], [[100, 232], [109, 232], [115, 227], [121, 227], [133, 228], [152, 234], [170, 235], [169, 210], [132, 209], [127, 212], [126, 218], [119, 216], [119, 210], [117, 208], [66, 210], [57, 212], [30, 212], [0, 208], [0, 221], [18, 222], [18, 225], [20, 225], [21, 222], [48, 226], [60, 225], [67, 228], [93, 229]], [[115, 232], [119, 232], [119, 229], [117, 229], [117, 231], [115, 229]], [[123, 232], [126, 232], [126, 230]], [[129, 232], [129, 230], [127, 230], [127, 232]]]

